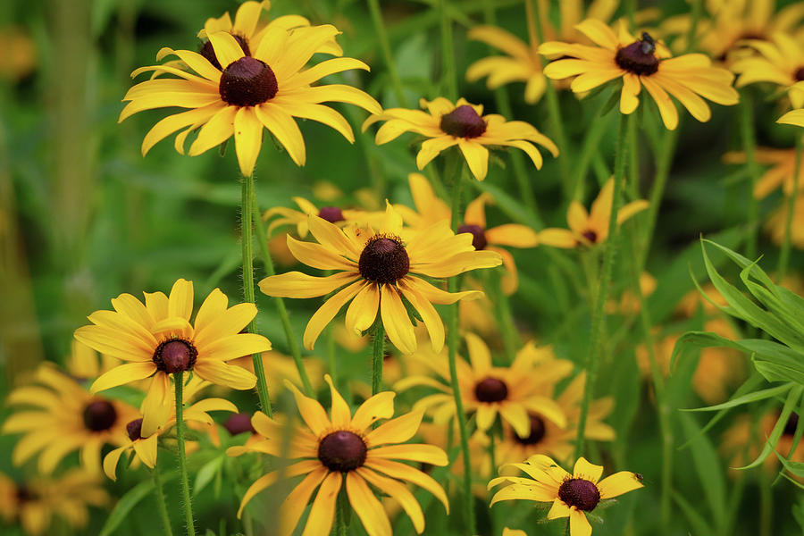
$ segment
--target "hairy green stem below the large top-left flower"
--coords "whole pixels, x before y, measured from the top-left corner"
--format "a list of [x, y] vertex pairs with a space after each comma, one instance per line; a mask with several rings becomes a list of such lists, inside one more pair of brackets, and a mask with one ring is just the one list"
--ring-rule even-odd
[[[254, 175], [243, 177], [243, 188], [240, 190], [240, 241], [243, 247], [243, 295], [248, 303], [255, 303], [254, 298], [254, 239], [252, 237], [252, 213], [255, 205]], [[262, 220], [261, 220], [262, 221]], [[261, 236], [261, 240], [264, 238]], [[267, 248], [268, 245], [266, 244]], [[254, 319], [248, 324], [248, 332], [256, 333]], [[271, 416], [271, 397], [268, 396], [268, 381], [265, 380], [263, 356], [256, 353], [251, 356], [254, 373], [257, 377], [257, 393], [260, 396], [260, 407], [266, 415]]]

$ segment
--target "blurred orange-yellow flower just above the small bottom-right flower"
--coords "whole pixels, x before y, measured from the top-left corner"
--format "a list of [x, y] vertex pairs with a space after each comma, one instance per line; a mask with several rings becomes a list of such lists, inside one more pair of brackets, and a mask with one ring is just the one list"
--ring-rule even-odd
[[[542, 357], [550, 363], [551, 356]], [[497, 446], [498, 463], [515, 463], [534, 454], [544, 454], [559, 460], [573, 455], [574, 442], [578, 436], [578, 418], [581, 415], [581, 400], [586, 381], [586, 373], [580, 373], [561, 391], [557, 397], [552, 394], [555, 384], [549, 385], [546, 394], [555, 398], [558, 407], [566, 415], [566, 425], [558, 426], [539, 411], [528, 411], [531, 419], [531, 432], [527, 435], [517, 433], [510, 425], [503, 423], [503, 440]], [[592, 400], [583, 435], [587, 440], [611, 441], [615, 431], [603, 419], [611, 413], [614, 399], [611, 397]]]

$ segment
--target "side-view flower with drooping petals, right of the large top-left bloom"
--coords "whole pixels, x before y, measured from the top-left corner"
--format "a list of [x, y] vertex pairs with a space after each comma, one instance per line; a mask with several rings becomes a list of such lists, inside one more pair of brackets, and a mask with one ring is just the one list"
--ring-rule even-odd
[[363, 130], [377, 121], [386, 121], [379, 130], [377, 145], [398, 138], [411, 131], [429, 138], [416, 155], [416, 165], [423, 169], [441, 151], [457, 146], [464, 154], [474, 178], [483, 180], [489, 171], [489, 149], [486, 146], [515, 147], [531, 157], [536, 169], [541, 169], [542, 158], [534, 144], [545, 147], [553, 156], [558, 147], [547, 136], [524, 121], [506, 121], [502, 115], [483, 115], [482, 105], [470, 105], [461, 97], [456, 104], [440, 96], [428, 102], [419, 101], [427, 112], [390, 108], [376, 113], [363, 123]]

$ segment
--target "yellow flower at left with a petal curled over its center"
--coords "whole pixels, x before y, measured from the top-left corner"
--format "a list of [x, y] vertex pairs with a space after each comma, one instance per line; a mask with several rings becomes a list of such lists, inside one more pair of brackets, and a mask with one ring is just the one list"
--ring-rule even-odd
[[253, 373], [226, 363], [271, 349], [271, 342], [262, 335], [240, 332], [256, 316], [254, 304], [229, 307], [229, 298], [214, 289], [190, 324], [192, 281], [176, 281], [170, 297], [162, 292], [144, 294], [145, 304], [130, 294], [113, 298], [114, 311], [90, 314], [92, 325], [75, 331], [75, 338], [88, 347], [128, 362], [98, 378], [90, 388], [93, 393], [152, 378], [141, 408], [143, 437], [168, 422], [173, 373], [192, 371], [231, 389], [255, 386]]

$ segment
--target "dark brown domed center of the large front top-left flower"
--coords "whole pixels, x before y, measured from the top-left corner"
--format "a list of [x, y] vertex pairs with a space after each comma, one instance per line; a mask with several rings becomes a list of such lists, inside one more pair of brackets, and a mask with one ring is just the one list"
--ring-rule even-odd
[[218, 86], [221, 98], [234, 106], [261, 105], [271, 100], [278, 88], [271, 67], [250, 56], [230, 63]]

